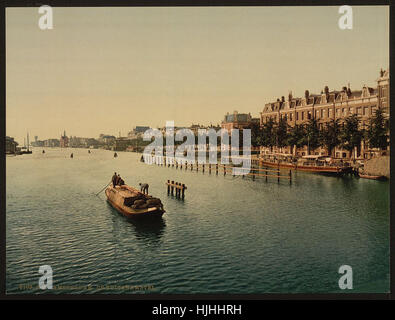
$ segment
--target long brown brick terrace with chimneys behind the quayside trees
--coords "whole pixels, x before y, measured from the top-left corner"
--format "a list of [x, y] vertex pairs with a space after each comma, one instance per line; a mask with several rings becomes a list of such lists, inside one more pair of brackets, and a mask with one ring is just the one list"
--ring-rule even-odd
[[[260, 118], [253, 118], [251, 114], [239, 114], [235, 111], [233, 114], [225, 115], [221, 127], [227, 130], [244, 129], [250, 128], [253, 123], [263, 126], [270, 119], [275, 122], [285, 119], [292, 127], [306, 124], [310, 119], [316, 119], [321, 129], [331, 120], [337, 119], [342, 124], [348, 116], [356, 114], [360, 120], [360, 128], [367, 128], [370, 118], [378, 108], [384, 111], [385, 117], [389, 118], [390, 114], [389, 70], [381, 70], [376, 82], [376, 87], [363, 86], [360, 90], [351, 90], [349, 85], [343, 87], [342, 90], [332, 91], [326, 86], [320, 94], [311, 94], [306, 90], [304, 97], [293, 97], [292, 92], [289, 92], [287, 99], [283, 96], [277, 101], [266, 103], [260, 112]], [[305, 156], [308, 150], [307, 146], [298, 149], [274, 148], [274, 150], [261, 147], [263, 154], [272, 152]], [[362, 142], [361, 147], [356, 150], [357, 157], [365, 158], [367, 153], [370, 153], [370, 150]], [[313, 154], [327, 155], [327, 151], [324, 148], [318, 148], [313, 151]], [[351, 157], [350, 152], [340, 148], [335, 148], [333, 155], [336, 158]]]

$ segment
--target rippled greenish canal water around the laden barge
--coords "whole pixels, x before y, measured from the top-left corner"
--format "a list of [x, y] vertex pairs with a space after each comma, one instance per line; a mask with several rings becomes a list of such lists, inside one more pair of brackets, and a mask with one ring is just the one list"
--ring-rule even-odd
[[[7, 293], [42, 292], [42, 265], [51, 293], [344, 292], [342, 265], [352, 292], [389, 291], [388, 182], [301, 172], [292, 184], [252, 181], [136, 153], [45, 150], [6, 160]], [[148, 183], [163, 218], [128, 221], [95, 196], [114, 171]], [[167, 179], [186, 184], [184, 201], [167, 195]]]

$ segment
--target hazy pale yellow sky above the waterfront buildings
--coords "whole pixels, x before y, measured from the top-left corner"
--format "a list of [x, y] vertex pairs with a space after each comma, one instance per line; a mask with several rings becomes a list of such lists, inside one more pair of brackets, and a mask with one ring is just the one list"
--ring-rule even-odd
[[376, 86], [389, 67], [389, 8], [338, 6], [6, 9], [6, 134], [21, 143], [122, 136], [137, 125], [259, 117], [282, 95]]

